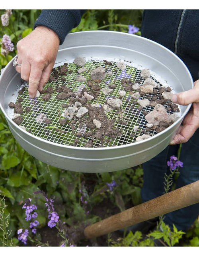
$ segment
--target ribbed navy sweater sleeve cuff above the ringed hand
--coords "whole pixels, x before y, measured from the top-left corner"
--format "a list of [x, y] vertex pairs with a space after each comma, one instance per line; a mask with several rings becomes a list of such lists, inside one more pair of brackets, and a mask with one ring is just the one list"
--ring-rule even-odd
[[37, 18], [34, 28], [46, 26], [59, 36], [60, 44], [63, 44], [67, 34], [80, 24], [85, 10], [42, 10]]

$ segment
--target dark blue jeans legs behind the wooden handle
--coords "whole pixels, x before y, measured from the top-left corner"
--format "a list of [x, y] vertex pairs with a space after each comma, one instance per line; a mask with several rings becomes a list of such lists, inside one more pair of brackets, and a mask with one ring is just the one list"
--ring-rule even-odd
[[[142, 201], [146, 202], [164, 193], [164, 176], [169, 173], [167, 161], [172, 155], [178, 156], [179, 145], [166, 147], [159, 155], [142, 165], [144, 170], [144, 185], [141, 189]], [[183, 143], [179, 160], [183, 162], [183, 167], [179, 167], [179, 176], [176, 181], [176, 189], [189, 183], [199, 180], [199, 129], [189, 139]], [[178, 230], [186, 231], [196, 220], [199, 214], [199, 203], [170, 212], [165, 215], [164, 222]]]

